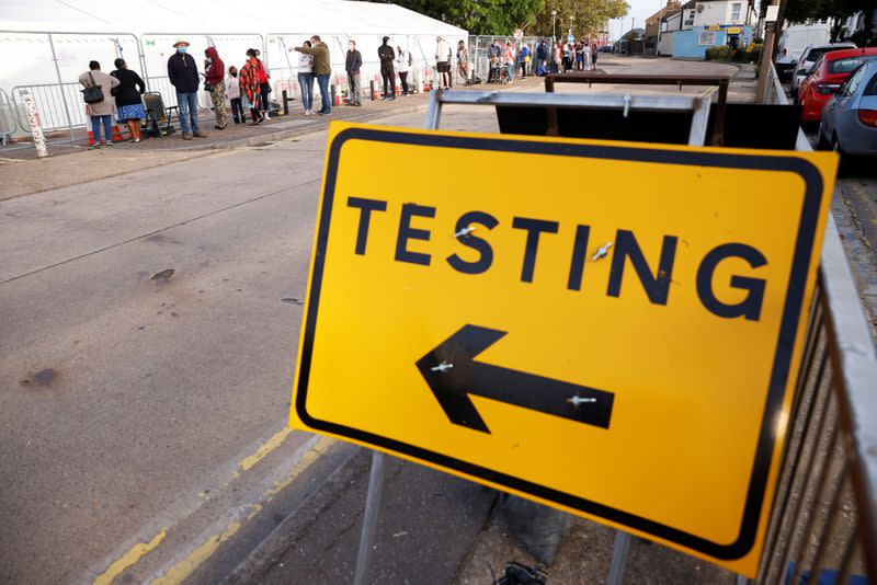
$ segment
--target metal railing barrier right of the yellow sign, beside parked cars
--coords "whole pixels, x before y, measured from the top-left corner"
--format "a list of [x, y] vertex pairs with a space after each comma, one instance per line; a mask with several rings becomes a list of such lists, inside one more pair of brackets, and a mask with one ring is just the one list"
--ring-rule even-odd
[[[770, 76], [765, 103], [788, 103]], [[874, 583], [877, 356], [833, 217], [807, 326], [758, 583]]]

